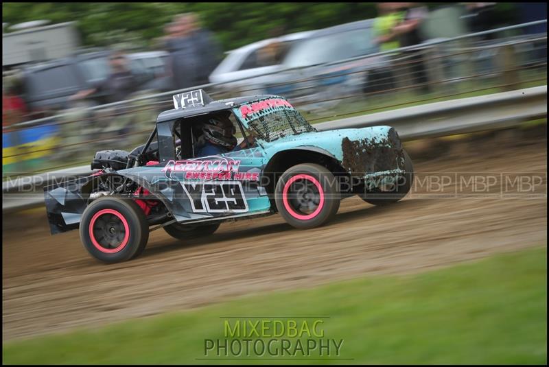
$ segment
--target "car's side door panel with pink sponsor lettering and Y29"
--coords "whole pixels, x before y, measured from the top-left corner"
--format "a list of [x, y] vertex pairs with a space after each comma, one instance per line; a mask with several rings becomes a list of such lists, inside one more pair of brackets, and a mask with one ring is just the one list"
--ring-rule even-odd
[[[204, 117], [196, 117], [196, 121], [189, 124], [196, 124], [200, 118]], [[161, 194], [170, 194], [166, 196], [167, 203], [178, 222], [209, 221], [270, 211], [267, 193], [259, 186], [261, 169], [265, 165], [261, 147], [195, 156], [192, 152], [196, 152], [196, 147], [192, 145], [197, 141], [194, 135], [199, 129], [182, 128], [171, 138], [178, 125], [175, 123], [175, 130], [172, 126], [159, 126], [166, 142], [160, 143], [160, 146], [161, 156], [173, 156], [175, 159], [160, 163], [163, 166], [162, 174], [153, 181], [160, 185], [158, 191]], [[177, 147], [173, 149], [172, 139], [176, 145], [180, 143], [181, 154], [178, 154]]]

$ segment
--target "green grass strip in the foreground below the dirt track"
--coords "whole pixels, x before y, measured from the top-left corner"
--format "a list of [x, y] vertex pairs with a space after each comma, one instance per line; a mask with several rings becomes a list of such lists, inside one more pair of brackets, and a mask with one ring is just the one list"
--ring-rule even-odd
[[547, 251], [535, 248], [8, 342], [3, 363], [265, 363], [196, 358], [223, 338], [221, 316], [327, 316], [325, 338], [343, 339], [339, 357], [352, 359], [287, 363], [546, 364], [546, 289]]

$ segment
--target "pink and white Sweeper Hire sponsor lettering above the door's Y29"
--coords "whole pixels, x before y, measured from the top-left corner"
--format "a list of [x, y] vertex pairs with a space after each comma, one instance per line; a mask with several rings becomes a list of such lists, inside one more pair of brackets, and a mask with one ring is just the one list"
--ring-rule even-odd
[[162, 171], [170, 180], [178, 179], [177, 176], [172, 176], [174, 172], [182, 172], [184, 180], [259, 180], [259, 172], [239, 172], [239, 167], [240, 160], [213, 156], [211, 159], [171, 160]]

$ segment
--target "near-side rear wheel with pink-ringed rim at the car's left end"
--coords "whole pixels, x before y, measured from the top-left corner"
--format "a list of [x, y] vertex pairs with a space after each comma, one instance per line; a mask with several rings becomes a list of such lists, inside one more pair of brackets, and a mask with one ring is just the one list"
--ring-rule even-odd
[[80, 239], [97, 260], [127, 261], [143, 252], [149, 239], [149, 225], [133, 200], [100, 198], [82, 213]]

